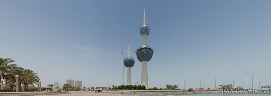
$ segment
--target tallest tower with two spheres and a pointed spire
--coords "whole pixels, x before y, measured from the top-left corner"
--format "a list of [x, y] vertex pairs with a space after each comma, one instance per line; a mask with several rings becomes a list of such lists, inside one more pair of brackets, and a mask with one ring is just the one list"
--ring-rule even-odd
[[145, 16], [145, 2], [144, 2], [144, 17], [143, 25], [140, 27], [140, 34], [143, 36], [142, 45], [137, 48], [136, 54], [137, 59], [142, 63], [141, 71], [141, 85], [149, 87], [148, 85], [148, 71], [147, 63], [152, 59], [153, 48], [147, 45], [147, 35], [149, 35], [150, 28], [146, 25], [146, 16]]

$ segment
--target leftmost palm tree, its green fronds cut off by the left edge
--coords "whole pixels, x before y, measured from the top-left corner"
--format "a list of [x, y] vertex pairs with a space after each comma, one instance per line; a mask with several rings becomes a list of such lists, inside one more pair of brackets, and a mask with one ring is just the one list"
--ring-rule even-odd
[[6, 83], [8, 83], [8, 80], [10, 77], [14, 76], [13, 72], [14, 69], [17, 68], [16, 64], [10, 64], [13, 63], [15, 60], [11, 60], [11, 58], [4, 59], [3, 57], [0, 58], [0, 82], [1, 78], [5, 79]]

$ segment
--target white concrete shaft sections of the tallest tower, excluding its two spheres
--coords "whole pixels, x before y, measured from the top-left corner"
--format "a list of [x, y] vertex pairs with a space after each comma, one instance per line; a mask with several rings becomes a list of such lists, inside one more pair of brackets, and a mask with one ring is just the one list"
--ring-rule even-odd
[[[143, 25], [146, 25], [146, 17], [145, 17], [145, 2], [144, 2], [144, 20]], [[143, 34], [143, 44], [147, 44], [147, 34]], [[148, 85], [148, 61], [142, 61], [142, 69], [141, 69], [141, 85], [149, 87]]]

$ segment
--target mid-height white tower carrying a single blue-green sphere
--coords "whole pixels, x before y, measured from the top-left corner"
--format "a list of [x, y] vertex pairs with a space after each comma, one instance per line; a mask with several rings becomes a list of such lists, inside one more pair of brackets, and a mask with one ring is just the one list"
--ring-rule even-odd
[[127, 85], [131, 85], [131, 67], [134, 66], [134, 58], [130, 56], [130, 33], [128, 36], [128, 56], [123, 61], [125, 67], [127, 67]]

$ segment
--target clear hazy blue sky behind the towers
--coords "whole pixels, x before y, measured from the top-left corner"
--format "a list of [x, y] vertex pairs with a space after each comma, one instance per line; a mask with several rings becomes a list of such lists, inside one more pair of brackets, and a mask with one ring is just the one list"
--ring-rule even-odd
[[[0, 57], [38, 73], [41, 85], [121, 84], [122, 40], [132, 84], [141, 81], [143, 0], [1, 0]], [[271, 83], [270, 0], [146, 0], [149, 87]], [[127, 68], [124, 68], [125, 84]], [[215, 85], [216, 84], [216, 85]], [[36, 86], [36, 85], [35, 85]]]

